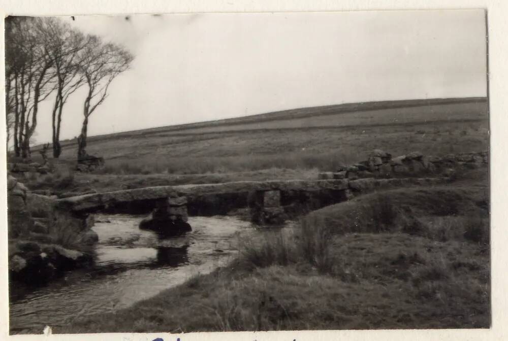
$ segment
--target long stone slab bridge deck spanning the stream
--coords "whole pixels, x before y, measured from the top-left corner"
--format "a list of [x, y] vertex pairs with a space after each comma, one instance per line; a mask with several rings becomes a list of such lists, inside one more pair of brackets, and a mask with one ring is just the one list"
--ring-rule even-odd
[[[288, 216], [348, 200], [380, 188], [434, 185], [447, 178], [240, 181], [220, 184], [157, 186], [85, 194], [56, 200], [58, 210], [81, 217], [90, 213], [148, 214], [171, 219], [225, 215], [248, 209], [253, 221], [279, 223]], [[155, 214], [157, 216], [157, 214]]]

